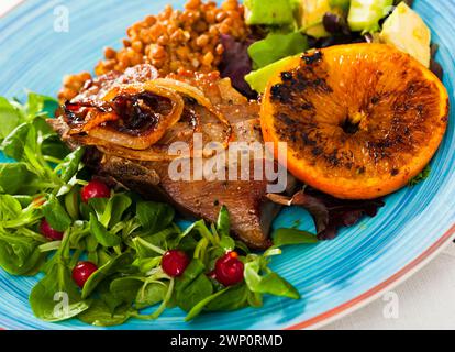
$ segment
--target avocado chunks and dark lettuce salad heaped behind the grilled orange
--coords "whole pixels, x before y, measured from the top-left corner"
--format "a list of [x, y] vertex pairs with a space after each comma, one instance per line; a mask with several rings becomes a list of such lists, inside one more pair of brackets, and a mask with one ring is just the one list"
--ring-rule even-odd
[[442, 78], [443, 69], [435, 61], [437, 46], [430, 45], [430, 29], [412, 10], [412, 0], [244, 0], [243, 3], [251, 35], [243, 42], [222, 35], [224, 53], [219, 69], [248, 98], [264, 94], [269, 78], [290, 57], [339, 44], [366, 42], [397, 46]]

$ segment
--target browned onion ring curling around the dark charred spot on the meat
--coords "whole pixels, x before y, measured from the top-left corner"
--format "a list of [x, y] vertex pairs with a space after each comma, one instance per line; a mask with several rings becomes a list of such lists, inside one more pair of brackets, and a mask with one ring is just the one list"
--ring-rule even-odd
[[185, 107], [185, 102], [181, 96], [170, 89], [158, 87], [154, 85], [153, 80], [151, 80], [144, 84], [132, 84], [114, 87], [108, 91], [103, 100], [112, 101], [118, 95], [136, 95], [143, 91], [148, 91], [170, 100], [170, 112], [167, 116], [160, 118], [156, 127], [145, 132], [143, 135], [133, 136], [124, 132], [115, 131], [111, 128], [98, 125], [90, 129], [88, 131], [88, 135], [100, 141], [109, 142], [114, 145], [131, 150], [146, 150], [158, 142], [166, 133], [166, 130], [171, 128], [180, 120]]

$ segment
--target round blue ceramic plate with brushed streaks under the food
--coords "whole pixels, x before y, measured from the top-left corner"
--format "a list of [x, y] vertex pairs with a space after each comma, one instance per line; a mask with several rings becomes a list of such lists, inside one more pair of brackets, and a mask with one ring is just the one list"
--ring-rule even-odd
[[[0, 19], [0, 95], [23, 97], [24, 88], [55, 95], [62, 77], [95, 67], [103, 46], [120, 46], [125, 30], [166, 3], [181, 7], [184, 0], [48, 0], [25, 1]], [[69, 32], [54, 31], [54, 10], [69, 10]], [[440, 44], [439, 62], [444, 84], [455, 108], [455, 0], [417, 0], [417, 11]], [[432, 162], [428, 180], [387, 198], [374, 219], [345, 229], [331, 242], [287, 248], [274, 268], [301, 293], [301, 300], [267, 298], [260, 309], [207, 314], [186, 323], [179, 309], [167, 310], [157, 321], [131, 320], [126, 329], [281, 329], [307, 328], [328, 322], [366, 304], [384, 289], [420, 268], [447, 243], [455, 231], [454, 108], [444, 143]], [[309, 216], [287, 209], [275, 226], [290, 226]], [[87, 328], [77, 320], [54, 324], [32, 315], [27, 296], [36, 278], [0, 273], [0, 327], [5, 329]]]

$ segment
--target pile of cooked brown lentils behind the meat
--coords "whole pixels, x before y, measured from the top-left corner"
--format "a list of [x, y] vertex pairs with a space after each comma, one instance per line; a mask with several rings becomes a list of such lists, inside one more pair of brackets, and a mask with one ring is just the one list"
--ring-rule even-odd
[[[221, 7], [189, 0], [184, 11], [167, 6], [162, 13], [133, 24], [126, 34], [121, 50], [104, 50], [104, 59], [95, 68], [97, 76], [144, 63], [154, 65], [163, 76], [179, 69], [213, 72], [224, 51], [220, 35], [244, 40], [249, 32], [237, 0], [226, 0]], [[89, 73], [66, 76], [59, 100], [73, 99], [90, 78]]]

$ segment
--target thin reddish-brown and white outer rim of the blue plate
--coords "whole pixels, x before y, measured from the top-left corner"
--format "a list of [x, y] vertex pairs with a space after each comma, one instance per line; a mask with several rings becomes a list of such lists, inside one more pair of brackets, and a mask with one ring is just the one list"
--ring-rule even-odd
[[[13, 4], [10, 9], [1, 13], [0, 19], [4, 19], [9, 15], [14, 14], [14, 12], [20, 10], [27, 3], [30, 4], [31, 2], [27, 0], [19, 0], [18, 3]], [[281, 330], [317, 330], [349, 314], [353, 314], [354, 311], [357, 311], [358, 309], [367, 306], [368, 304], [379, 298], [384, 293], [391, 290], [392, 288], [404, 283], [411, 276], [417, 274], [433, 258], [435, 258], [437, 254], [440, 254], [454, 240], [455, 222], [437, 241], [430, 245], [423, 253], [418, 255], [415, 258], [413, 258], [411, 262], [401, 267], [397, 273], [382, 280], [380, 284], [377, 284], [373, 288], [336, 306], [335, 308], [331, 308], [322, 314], [319, 314], [315, 317], [285, 327]], [[0, 327], [0, 330], [9, 329]]]

